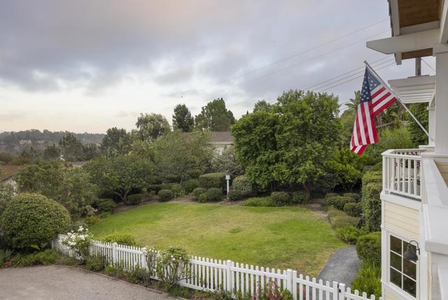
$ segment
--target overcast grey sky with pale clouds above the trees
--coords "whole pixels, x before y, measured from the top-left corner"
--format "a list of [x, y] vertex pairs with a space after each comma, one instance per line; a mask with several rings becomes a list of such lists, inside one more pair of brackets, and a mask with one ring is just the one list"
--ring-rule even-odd
[[[141, 112], [171, 123], [176, 104], [197, 114], [216, 97], [239, 117], [364, 60], [412, 76], [413, 60], [387, 67], [365, 47], [390, 34], [385, 0], [0, 0], [0, 131], [131, 129]], [[352, 78], [321, 90], [345, 102]]]

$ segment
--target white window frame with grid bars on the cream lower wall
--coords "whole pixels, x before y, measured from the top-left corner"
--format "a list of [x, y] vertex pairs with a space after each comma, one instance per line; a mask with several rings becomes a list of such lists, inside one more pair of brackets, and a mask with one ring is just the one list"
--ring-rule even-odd
[[[407, 299], [419, 299], [420, 297], [420, 255], [417, 253], [417, 255], [419, 256], [419, 260], [416, 261], [416, 274], [415, 274], [415, 282], [416, 282], [416, 291], [415, 291], [415, 297], [412, 296], [412, 294], [409, 294], [408, 292], [406, 292], [404, 289], [402, 289], [401, 287], [398, 287], [398, 285], [395, 285], [395, 283], [391, 282], [391, 268], [393, 268], [391, 266], [391, 236], [393, 236], [394, 238], [398, 238], [399, 240], [402, 240], [402, 242], [406, 242], [409, 243], [412, 238], [406, 238], [405, 236], [402, 236], [398, 233], [394, 233], [394, 232], [390, 232], [390, 231], [386, 231], [387, 233], [387, 248], [386, 248], [386, 252], [387, 252], [387, 271], [386, 271], [386, 279], [387, 279], [387, 284], [388, 287], [390, 287], [391, 289], [393, 289], [393, 291], [402, 294], [403, 296], [406, 296]], [[414, 245], [415, 246], [415, 245]], [[403, 252], [406, 251], [403, 249]], [[395, 251], [393, 251], [395, 254]], [[400, 257], [402, 257], [402, 254], [398, 254], [400, 255]], [[410, 278], [409, 276], [407, 276], [406, 274], [402, 273], [402, 271], [397, 270], [396, 268], [393, 268], [395, 271], [398, 271], [400, 274], [406, 276], [407, 278]], [[411, 280], [414, 280], [412, 278], [410, 278]]]

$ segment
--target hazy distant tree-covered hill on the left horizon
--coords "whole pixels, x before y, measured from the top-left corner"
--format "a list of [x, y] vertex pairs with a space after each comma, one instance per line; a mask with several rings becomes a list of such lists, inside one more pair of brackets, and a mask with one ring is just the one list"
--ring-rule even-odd
[[21, 130], [0, 132], [0, 151], [20, 154], [23, 150], [33, 147], [35, 150], [43, 150], [46, 146], [57, 144], [66, 134], [73, 134], [83, 144], [100, 144], [104, 134], [102, 133], [75, 133], [69, 131], [50, 130]]

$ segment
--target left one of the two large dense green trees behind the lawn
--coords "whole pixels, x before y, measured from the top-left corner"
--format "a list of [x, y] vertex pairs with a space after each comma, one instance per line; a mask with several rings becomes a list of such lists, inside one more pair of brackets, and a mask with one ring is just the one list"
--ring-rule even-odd
[[234, 137], [235, 156], [250, 182], [262, 189], [274, 189], [272, 166], [279, 161], [275, 137], [278, 119], [272, 112], [257, 111], [242, 116], [230, 132]]

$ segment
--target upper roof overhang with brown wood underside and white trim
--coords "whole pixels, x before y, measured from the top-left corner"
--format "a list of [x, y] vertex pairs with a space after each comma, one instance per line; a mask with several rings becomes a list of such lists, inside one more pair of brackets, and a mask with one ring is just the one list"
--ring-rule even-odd
[[433, 47], [448, 43], [448, 0], [389, 0], [392, 37], [368, 41], [367, 48], [394, 54], [401, 60], [433, 55]]

